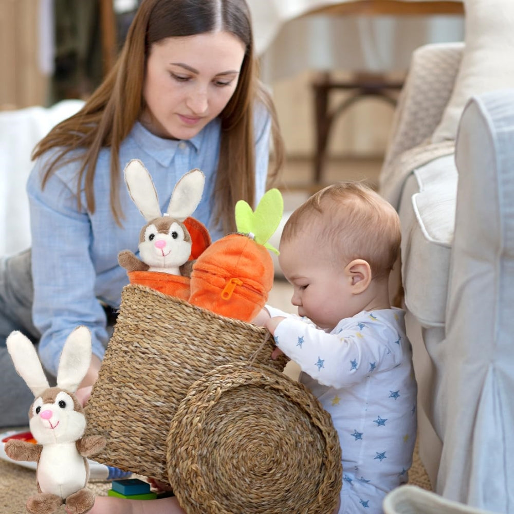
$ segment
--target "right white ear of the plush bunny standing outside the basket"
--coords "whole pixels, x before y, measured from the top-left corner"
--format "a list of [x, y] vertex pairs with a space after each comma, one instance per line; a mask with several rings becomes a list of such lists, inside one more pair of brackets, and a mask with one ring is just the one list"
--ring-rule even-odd
[[64, 343], [57, 371], [57, 386], [75, 393], [86, 376], [90, 363], [91, 333], [87, 327], [79, 326]]

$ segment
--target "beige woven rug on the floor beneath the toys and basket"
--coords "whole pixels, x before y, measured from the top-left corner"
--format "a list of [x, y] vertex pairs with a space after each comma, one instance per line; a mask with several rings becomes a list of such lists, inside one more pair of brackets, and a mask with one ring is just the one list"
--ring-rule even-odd
[[[417, 445], [414, 450], [412, 468], [409, 471], [409, 484], [431, 490], [428, 475], [417, 453]], [[111, 489], [111, 484], [109, 482], [91, 481], [88, 488], [98, 496], [105, 496], [107, 491]], [[36, 492], [34, 471], [0, 460], [1, 514], [26, 514], [25, 502], [31, 494]], [[66, 510], [61, 507], [58, 512], [59, 514], [65, 514]]]

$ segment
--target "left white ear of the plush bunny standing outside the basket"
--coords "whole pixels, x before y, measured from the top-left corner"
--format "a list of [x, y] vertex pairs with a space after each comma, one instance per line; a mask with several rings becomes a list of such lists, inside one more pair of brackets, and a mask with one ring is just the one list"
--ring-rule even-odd
[[50, 386], [34, 345], [28, 337], [18, 331], [9, 334], [6, 344], [14, 368], [25, 380], [34, 396], [40, 396]]

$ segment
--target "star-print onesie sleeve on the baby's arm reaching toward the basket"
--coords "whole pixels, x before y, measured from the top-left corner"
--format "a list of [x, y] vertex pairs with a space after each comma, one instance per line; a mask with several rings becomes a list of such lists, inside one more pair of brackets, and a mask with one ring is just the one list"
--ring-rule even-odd
[[324, 386], [338, 389], [399, 363], [388, 344], [376, 335], [364, 337], [358, 327], [327, 334], [301, 319], [286, 318], [277, 325], [274, 338], [303, 372]]

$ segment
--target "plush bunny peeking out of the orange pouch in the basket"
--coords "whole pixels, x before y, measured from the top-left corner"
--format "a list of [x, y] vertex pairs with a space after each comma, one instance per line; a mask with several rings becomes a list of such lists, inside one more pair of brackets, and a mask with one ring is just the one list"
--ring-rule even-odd
[[118, 254], [118, 262], [128, 272], [161, 271], [189, 277], [192, 263], [191, 236], [184, 221], [198, 206], [205, 175], [191, 170], [176, 183], [168, 212], [161, 214], [152, 177], [138, 159], [125, 167], [125, 182], [132, 200], [146, 222], [139, 234], [139, 260], [130, 250]]

